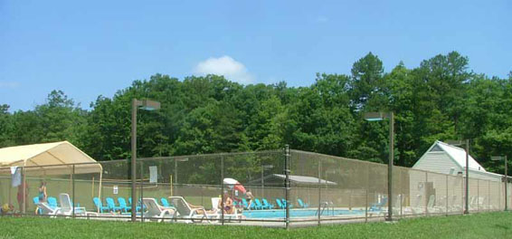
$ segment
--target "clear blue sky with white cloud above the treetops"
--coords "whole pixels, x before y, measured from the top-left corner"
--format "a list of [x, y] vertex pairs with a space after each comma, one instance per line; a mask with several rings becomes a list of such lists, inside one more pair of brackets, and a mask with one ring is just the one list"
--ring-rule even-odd
[[459, 51], [474, 72], [512, 71], [510, 1], [0, 1], [0, 104], [52, 90], [84, 108], [156, 72], [291, 86], [349, 73], [366, 53], [389, 72]]

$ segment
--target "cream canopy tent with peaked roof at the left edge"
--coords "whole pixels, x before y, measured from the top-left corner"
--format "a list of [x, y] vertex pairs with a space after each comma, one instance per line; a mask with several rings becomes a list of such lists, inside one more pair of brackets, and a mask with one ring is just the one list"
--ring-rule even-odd
[[103, 168], [68, 141], [0, 148], [0, 174], [10, 175], [11, 167], [24, 167], [30, 176], [99, 173], [100, 196]]

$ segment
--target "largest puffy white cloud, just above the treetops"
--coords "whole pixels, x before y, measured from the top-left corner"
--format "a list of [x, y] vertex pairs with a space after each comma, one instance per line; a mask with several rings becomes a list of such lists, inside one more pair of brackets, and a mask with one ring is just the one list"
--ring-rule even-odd
[[203, 62], [199, 62], [194, 73], [206, 75], [216, 74], [223, 75], [226, 79], [237, 81], [242, 84], [250, 84], [254, 81], [251, 73], [247, 72], [247, 68], [242, 62], [237, 62], [231, 56], [224, 55], [219, 58], [208, 58]]

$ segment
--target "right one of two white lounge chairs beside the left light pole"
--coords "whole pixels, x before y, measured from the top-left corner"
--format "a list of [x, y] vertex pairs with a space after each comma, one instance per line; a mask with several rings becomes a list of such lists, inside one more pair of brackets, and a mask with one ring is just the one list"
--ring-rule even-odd
[[[208, 223], [212, 223], [209, 219], [218, 217], [216, 213], [208, 214], [206, 210], [204, 210], [204, 207], [191, 208], [183, 196], [169, 196], [169, 201], [171, 205], [175, 206], [178, 217], [188, 219], [185, 220], [186, 223], [203, 222], [204, 219], [206, 219]], [[198, 212], [202, 212], [202, 214]]]

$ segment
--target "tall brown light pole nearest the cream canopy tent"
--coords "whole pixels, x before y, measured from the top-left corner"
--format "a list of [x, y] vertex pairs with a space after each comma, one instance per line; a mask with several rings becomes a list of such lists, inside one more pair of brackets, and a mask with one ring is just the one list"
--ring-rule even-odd
[[137, 108], [159, 110], [160, 102], [153, 100], [131, 100], [131, 221], [137, 220]]

